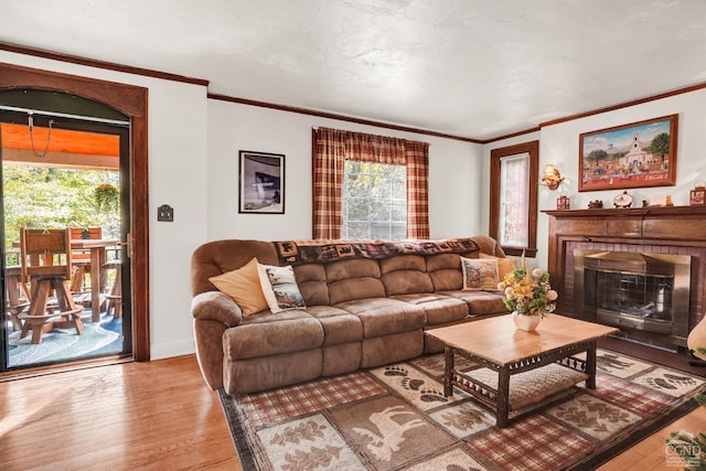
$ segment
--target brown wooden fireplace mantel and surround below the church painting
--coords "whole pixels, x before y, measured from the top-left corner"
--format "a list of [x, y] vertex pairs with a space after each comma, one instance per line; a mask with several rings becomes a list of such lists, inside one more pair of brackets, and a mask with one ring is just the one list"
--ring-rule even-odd
[[[571, 247], [639, 248], [693, 256], [689, 329], [703, 318], [706, 279], [706, 206], [648, 206], [543, 211], [549, 216], [547, 265], [559, 292], [557, 309], [571, 315]], [[569, 250], [567, 250], [567, 247]]]

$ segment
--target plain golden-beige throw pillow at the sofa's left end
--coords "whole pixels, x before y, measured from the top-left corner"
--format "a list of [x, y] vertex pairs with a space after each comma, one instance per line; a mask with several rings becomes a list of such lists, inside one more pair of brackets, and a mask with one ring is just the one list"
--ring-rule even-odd
[[233, 298], [246, 317], [268, 308], [257, 266], [257, 258], [253, 258], [237, 270], [208, 278], [218, 290]]

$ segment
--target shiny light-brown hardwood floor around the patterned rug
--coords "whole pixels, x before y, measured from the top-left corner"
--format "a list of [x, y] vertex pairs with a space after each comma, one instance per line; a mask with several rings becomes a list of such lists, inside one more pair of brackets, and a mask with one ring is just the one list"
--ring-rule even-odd
[[[702, 407], [600, 470], [668, 469], [668, 431], [704, 424]], [[240, 464], [218, 397], [189, 355], [0, 382], [0, 468], [238, 471]]]

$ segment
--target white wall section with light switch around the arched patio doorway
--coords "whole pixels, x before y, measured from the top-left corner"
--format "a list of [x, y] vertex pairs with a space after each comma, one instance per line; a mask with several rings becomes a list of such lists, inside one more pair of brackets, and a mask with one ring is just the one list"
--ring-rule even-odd
[[[4, 51], [0, 62], [149, 89], [151, 357], [192, 353], [189, 269], [207, 238], [206, 88]], [[157, 222], [161, 204], [174, 207], [173, 223]]]

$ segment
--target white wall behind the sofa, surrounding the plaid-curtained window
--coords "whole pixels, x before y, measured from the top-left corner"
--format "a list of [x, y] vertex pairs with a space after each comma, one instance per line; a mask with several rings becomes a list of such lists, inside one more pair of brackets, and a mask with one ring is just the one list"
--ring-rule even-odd
[[[208, 238], [311, 237], [311, 130], [429, 142], [431, 238], [481, 234], [481, 146], [270, 108], [208, 100]], [[238, 151], [285, 154], [285, 214], [238, 213]]]

